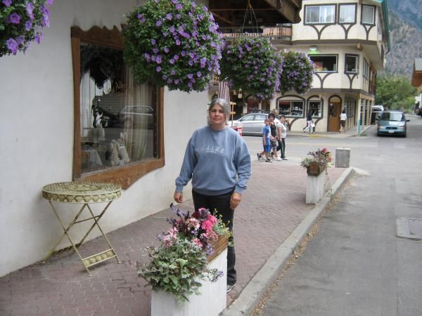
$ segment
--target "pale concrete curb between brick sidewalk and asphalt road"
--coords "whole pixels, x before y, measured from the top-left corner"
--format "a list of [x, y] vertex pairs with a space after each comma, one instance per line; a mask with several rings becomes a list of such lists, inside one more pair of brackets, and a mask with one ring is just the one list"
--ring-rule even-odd
[[[347, 168], [342, 175], [335, 181], [331, 187], [332, 195], [337, 194], [346, 181], [356, 173], [352, 167]], [[274, 279], [278, 277], [286, 261], [295, 251], [296, 247], [302, 242], [307, 232], [316, 223], [321, 213], [324, 212], [331, 197], [324, 196], [314, 209], [309, 212], [304, 220], [295, 230], [286, 238], [286, 240], [274, 251], [262, 268], [250, 279], [250, 282], [241, 291], [236, 300], [227, 306], [220, 314], [221, 316], [239, 316], [250, 315], [260, 302], [262, 296], [269, 289]]]

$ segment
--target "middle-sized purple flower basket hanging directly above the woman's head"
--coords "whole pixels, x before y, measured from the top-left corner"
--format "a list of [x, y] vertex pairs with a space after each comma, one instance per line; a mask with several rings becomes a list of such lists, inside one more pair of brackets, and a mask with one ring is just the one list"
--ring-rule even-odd
[[229, 86], [243, 89], [258, 99], [273, 98], [279, 91], [283, 58], [263, 37], [226, 39], [222, 53], [221, 78], [229, 79]]

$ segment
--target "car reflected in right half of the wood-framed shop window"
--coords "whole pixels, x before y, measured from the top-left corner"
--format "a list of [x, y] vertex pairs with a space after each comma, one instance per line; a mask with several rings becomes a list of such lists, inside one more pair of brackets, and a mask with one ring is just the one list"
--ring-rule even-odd
[[147, 123], [148, 129], [154, 126], [154, 109], [148, 105], [126, 105], [119, 113], [119, 121], [127, 128], [138, 128], [136, 123]]

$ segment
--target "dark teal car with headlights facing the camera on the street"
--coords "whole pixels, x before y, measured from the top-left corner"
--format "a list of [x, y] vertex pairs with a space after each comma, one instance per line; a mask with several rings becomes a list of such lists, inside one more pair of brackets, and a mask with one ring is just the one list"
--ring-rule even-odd
[[406, 137], [407, 122], [410, 121], [404, 117], [400, 111], [384, 111], [377, 120], [377, 136], [399, 135]]

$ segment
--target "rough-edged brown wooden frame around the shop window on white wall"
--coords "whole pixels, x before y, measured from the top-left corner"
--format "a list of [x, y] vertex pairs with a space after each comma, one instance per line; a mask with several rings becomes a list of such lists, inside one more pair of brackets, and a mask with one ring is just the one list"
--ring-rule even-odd
[[117, 183], [124, 189], [132, 185], [146, 173], [165, 166], [164, 153], [164, 119], [163, 103], [164, 88], [157, 91], [157, 121], [158, 124], [158, 157], [146, 159], [140, 162], [133, 162], [124, 166], [115, 166], [101, 171], [82, 173], [81, 166], [81, 134], [80, 134], [80, 43], [96, 44], [110, 48], [123, 49], [123, 39], [117, 27], [107, 29], [103, 27], [91, 27], [88, 31], [82, 31], [79, 27], [71, 27], [70, 32], [72, 44], [72, 67], [73, 67], [73, 98], [74, 98], [74, 143], [73, 143], [73, 180], [90, 180]]

